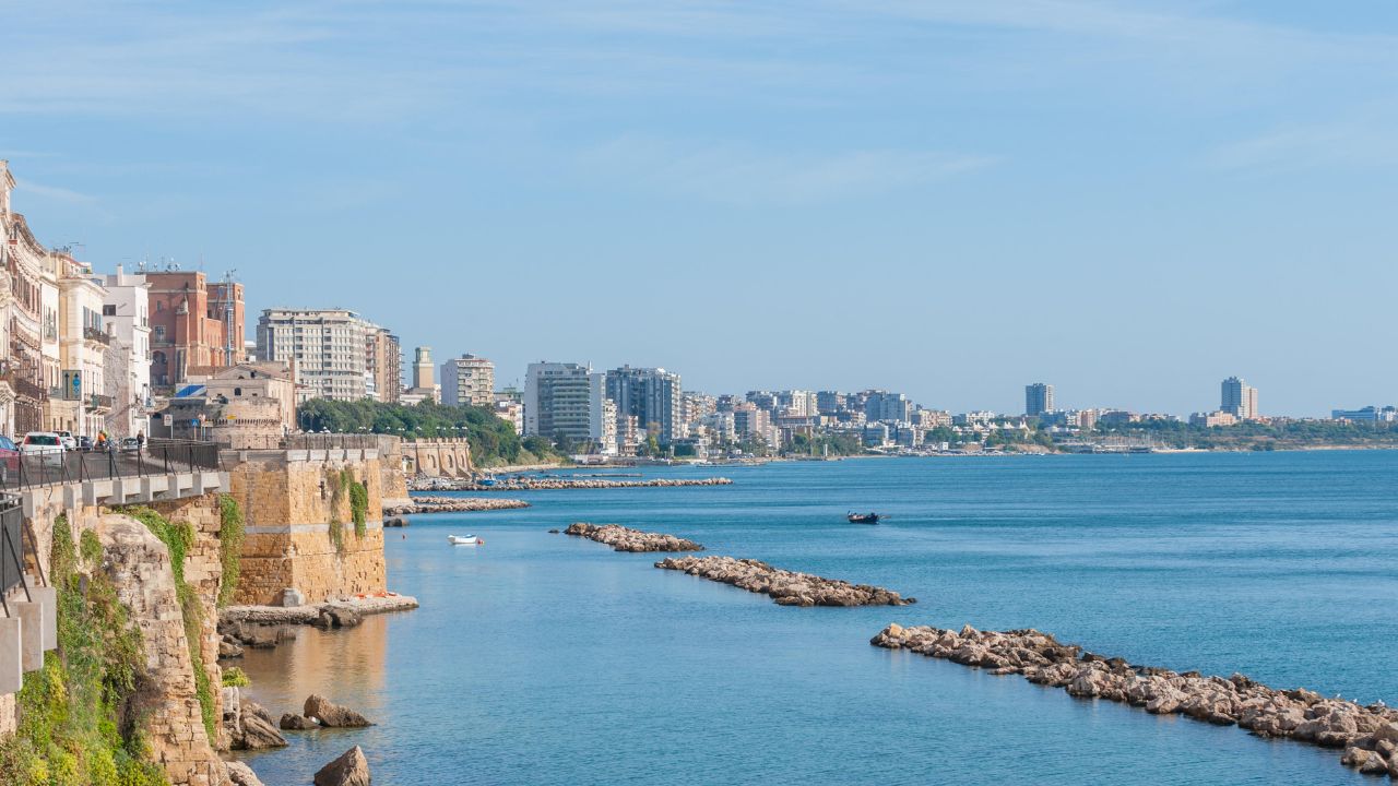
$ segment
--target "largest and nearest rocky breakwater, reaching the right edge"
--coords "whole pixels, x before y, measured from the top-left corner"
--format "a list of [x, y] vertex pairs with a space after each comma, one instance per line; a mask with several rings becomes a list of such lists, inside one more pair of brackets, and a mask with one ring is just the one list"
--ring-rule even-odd
[[1346, 766], [1398, 778], [1398, 710], [1383, 703], [1362, 706], [1304, 688], [1279, 691], [1241, 674], [1204, 677], [1198, 671], [1132, 666], [1035, 629], [889, 625], [870, 643], [990, 669], [993, 674], [1021, 674], [1072, 696], [1130, 703], [1153, 715], [1186, 715], [1219, 726], [1237, 724], [1260, 737], [1343, 748], [1341, 762]]

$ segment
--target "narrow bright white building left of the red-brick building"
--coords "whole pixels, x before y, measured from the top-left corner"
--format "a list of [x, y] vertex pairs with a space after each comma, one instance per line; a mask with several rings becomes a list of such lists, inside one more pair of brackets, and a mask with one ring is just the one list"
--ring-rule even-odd
[[122, 373], [106, 375], [112, 411], [106, 417], [106, 431], [113, 436], [150, 435], [151, 400], [151, 319], [150, 283], [144, 276], [133, 276], [119, 264], [116, 273], [103, 280], [106, 299], [102, 320], [112, 337], [112, 351], [124, 357], [113, 364]]

